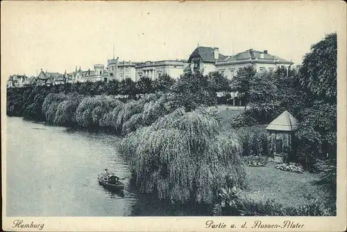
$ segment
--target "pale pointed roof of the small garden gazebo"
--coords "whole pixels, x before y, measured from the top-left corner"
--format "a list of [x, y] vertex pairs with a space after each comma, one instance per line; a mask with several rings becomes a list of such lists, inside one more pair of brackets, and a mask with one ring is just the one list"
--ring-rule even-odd
[[280, 116], [275, 118], [267, 127], [266, 130], [279, 130], [285, 132], [291, 132], [298, 127], [298, 120], [294, 118], [287, 110]]

